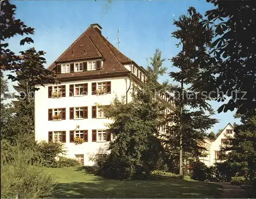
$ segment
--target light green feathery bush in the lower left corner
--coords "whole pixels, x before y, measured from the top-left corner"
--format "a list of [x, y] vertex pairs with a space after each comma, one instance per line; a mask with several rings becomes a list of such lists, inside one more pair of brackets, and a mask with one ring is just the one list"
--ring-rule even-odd
[[48, 196], [54, 181], [31, 160], [35, 152], [20, 145], [1, 143], [1, 197], [38, 198]]

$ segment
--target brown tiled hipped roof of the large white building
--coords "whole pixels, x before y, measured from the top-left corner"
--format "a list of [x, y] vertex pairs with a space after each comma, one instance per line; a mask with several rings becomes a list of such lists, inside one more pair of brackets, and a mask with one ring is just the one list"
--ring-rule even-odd
[[63, 73], [58, 74], [57, 78], [128, 72], [123, 66], [123, 63], [132, 62], [130, 58], [123, 55], [103, 35], [101, 35], [101, 31], [99, 31], [97, 27], [91, 25], [55, 60], [54, 63], [50, 65], [50, 67], [48, 67], [48, 70], [55, 70], [56, 63], [97, 58], [103, 59], [103, 66], [101, 70]]

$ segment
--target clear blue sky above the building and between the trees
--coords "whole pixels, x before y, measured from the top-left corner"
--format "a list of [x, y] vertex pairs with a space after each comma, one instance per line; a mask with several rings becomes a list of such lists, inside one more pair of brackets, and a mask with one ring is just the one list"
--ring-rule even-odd
[[[21, 37], [9, 40], [14, 52], [34, 46], [47, 54], [46, 67], [50, 65], [71, 43], [80, 36], [90, 24], [97, 23], [102, 27], [102, 34], [117, 46], [117, 29], [119, 29], [119, 50], [127, 57], [146, 67], [148, 57], [155, 49], [162, 51], [163, 58], [171, 58], [178, 53], [177, 40], [171, 37], [176, 30], [173, 20], [186, 14], [189, 6], [200, 13], [213, 9], [206, 1], [12, 1], [16, 5], [16, 18], [22, 19], [27, 26], [35, 28], [32, 36], [33, 45], [18, 45]], [[172, 63], [164, 61], [168, 72], [174, 70]], [[159, 79], [169, 79], [164, 75]], [[9, 85], [11, 86], [12, 83]], [[12, 90], [11, 90], [12, 91]], [[211, 102], [217, 110], [221, 105]], [[216, 114], [220, 120], [207, 131], [218, 131], [228, 122], [239, 123], [233, 118], [234, 112]]]

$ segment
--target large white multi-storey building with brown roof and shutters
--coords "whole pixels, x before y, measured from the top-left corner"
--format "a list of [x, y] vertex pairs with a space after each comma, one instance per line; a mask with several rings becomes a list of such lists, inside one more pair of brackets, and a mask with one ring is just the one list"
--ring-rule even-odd
[[[84, 165], [93, 165], [90, 158], [105, 154], [111, 141], [105, 125], [110, 121], [97, 103], [108, 105], [115, 95], [130, 101], [133, 84], [146, 81], [146, 71], [111, 45], [101, 30], [92, 24], [82, 33], [48, 68], [60, 84], [37, 85], [35, 93], [36, 141], [65, 143], [67, 157]], [[168, 94], [160, 97], [174, 106]], [[84, 142], [75, 144], [74, 137]]]

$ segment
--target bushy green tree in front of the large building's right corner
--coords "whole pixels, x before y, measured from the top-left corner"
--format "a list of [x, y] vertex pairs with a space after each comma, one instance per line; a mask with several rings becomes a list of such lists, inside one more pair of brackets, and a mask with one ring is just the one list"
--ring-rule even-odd
[[147, 67], [147, 80], [140, 87], [134, 86], [132, 101], [125, 102], [117, 97], [111, 105], [103, 107], [113, 135], [109, 156], [101, 164], [100, 172], [111, 179], [131, 180], [150, 175], [160, 158], [161, 143], [158, 127], [165, 122], [165, 104], [156, 100], [156, 91], [162, 91], [166, 82], [157, 79], [166, 69], [162, 67], [161, 52], [156, 50]]

